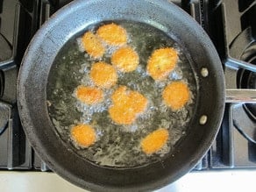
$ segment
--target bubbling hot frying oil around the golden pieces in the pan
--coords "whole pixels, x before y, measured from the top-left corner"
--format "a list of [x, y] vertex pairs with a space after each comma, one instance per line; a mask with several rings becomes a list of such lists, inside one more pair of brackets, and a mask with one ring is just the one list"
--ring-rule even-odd
[[[122, 25], [127, 31], [128, 45], [139, 54], [139, 67], [131, 73], [118, 72], [117, 85], [103, 89], [103, 103], [87, 105], [79, 102], [75, 98], [75, 89], [81, 84], [93, 86], [89, 79], [89, 70], [94, 62], [99, 61], [79, 50], [77, 39], [82, 36], [80, 33], [68, 41], [53, 63], [47, 86], [47, 100], [51, 103], [48, 110], [60, 138], [82, 157], [101, 166], [136, 167], [160, 160], [172, 153], [175, 143], [186, 135], [196, 106], [196, 78], [188, 60], [188, 53], [164, 32], [141, 23], [115, 23]], [[85, 32], [95, 32], [97, 27], [89, 27]], [[174, 47], [179, 53], [179, 60], [167, 80], [155, 82], [146, 73], [146, 62], [153, 50], [162, 47]], [[108, 47], [107, 53], [100, 60], [110, 63], [110, 55], [115, 49], [117, 47]], [[168, 108], [161, 97], [163, 89], [173, 81], [187, 83], [190, 90], [188, 103], [178, 111]], [[147, 98], [146, 111], [133, 124], [115, 124], [108, 113], [112, 104], [110, 96], [120, 85], [137, 90]], [[96, 143], [89, 148], [76, 145], [70, 138], [72, 126], [81, 123], [91, 124], [96, 129]], [[168, 130], [167, 144], [160, 152], [146, 155], [141, 151], [140, 141], [158, 128]]]

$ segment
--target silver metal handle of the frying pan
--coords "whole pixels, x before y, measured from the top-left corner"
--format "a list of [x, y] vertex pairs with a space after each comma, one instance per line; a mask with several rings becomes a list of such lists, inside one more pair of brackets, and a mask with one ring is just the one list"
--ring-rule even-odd
[[226, 89], [226, 103], [256, 103], [256, 89]]

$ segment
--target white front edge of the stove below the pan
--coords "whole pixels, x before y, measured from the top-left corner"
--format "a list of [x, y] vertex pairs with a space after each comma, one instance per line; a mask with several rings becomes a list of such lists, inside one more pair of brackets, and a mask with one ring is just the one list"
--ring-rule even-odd
[[[192, 172], [156, 192], [253, 191], [256, 169]], [[86, 192], [62, 179], [44, 172], [0, 171], [1, 192]]]

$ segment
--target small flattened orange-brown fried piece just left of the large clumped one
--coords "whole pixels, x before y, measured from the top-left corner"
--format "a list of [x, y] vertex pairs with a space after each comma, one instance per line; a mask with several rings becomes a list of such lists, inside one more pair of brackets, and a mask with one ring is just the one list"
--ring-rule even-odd
[[76, 97], [86, 104], [96, 104], [103, 101], [103, 90], [80, 85], [75, 91]]

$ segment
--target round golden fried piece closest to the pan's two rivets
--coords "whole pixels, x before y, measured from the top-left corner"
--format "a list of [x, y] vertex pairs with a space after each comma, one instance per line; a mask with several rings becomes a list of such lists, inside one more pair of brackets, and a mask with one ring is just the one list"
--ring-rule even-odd
[[172, 110], [180, 110], [188, 102], [189, 95], [184, 82], [171, 82], [162, 92], [163, 100]]

